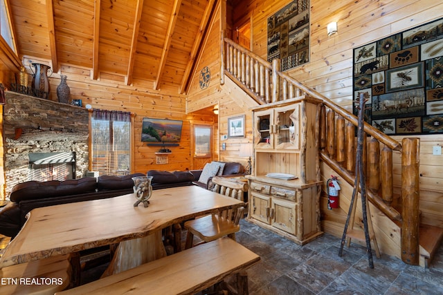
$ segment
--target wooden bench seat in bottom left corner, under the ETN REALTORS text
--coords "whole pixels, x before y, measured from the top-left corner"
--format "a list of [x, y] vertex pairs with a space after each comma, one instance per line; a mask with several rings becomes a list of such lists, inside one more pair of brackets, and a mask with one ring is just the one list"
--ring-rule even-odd
[[[0, 294], [54, 294], [78, 282], [73, 281], [72, 261], [78, 254], [66, 254], [11, 265], [0, 269]], [[78, 273], [80, 274], [80, 273]], [[78, 278], [75, 278], [78, 280]]]

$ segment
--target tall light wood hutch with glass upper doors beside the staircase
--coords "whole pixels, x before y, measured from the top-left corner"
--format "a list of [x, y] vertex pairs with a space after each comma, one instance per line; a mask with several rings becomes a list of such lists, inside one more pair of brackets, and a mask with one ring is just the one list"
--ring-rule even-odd
[[[300, 245], [320, 229], [318, 100], [298, 97], [253, 109], [255, 165], [248, 220]], [[289, 173], [297, 179], [267, 177]]]

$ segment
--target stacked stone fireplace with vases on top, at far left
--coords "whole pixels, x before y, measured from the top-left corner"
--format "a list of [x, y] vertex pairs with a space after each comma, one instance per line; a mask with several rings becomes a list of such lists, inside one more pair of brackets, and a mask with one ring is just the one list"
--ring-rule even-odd
[[8, 91], [3, 106], [6, 199], [20, 182], [84, 177], [88, 138], [87, 109]]

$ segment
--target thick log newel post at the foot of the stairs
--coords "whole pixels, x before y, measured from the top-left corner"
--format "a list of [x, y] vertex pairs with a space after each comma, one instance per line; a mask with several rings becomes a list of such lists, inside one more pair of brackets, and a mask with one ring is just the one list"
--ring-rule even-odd
[[419, 139], [401, 142], [401, 260], [419, 265]]

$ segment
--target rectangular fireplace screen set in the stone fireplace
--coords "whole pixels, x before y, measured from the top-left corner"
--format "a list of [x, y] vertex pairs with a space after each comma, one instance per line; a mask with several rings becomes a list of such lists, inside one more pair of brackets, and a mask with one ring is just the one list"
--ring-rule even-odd
[[75, 178], [75, 153], [30, 153], [28, 180], [49, 181]]

